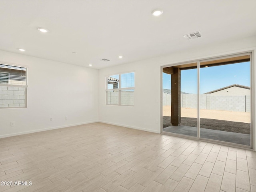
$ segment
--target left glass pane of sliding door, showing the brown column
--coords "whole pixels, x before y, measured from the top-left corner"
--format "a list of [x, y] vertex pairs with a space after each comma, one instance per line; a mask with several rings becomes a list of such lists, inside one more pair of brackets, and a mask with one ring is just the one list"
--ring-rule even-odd
[[[163, 68], [163, 131], [197, 136], [197, 64]], [[188, 69], [189, 68], [189, 69]]]

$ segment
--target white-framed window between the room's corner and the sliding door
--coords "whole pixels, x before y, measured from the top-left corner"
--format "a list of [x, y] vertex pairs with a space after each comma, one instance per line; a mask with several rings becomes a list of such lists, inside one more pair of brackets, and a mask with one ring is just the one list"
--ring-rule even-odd
[[106, 77], [107, 105], [134, 106], [134, 72]]

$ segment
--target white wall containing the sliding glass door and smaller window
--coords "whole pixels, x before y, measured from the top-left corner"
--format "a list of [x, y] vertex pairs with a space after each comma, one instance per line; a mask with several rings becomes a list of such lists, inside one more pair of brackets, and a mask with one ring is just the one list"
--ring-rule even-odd
[[[188, 41], [188, 44], [190, 43], [193, 42]], [[216, 43], [203, 48], [194, 48], [166, 56], [100, 69], [99, 120], [100, 122], [160, 133], [161, 104], [157, 101], [160, 100], [160, 89], [162, 86], [160, 79], [161, 66], [251, 50], [256, 51], [256, 36], [234, 40], [232, 42]], [[253, 61], [253, 65], [255, 65], [255, 61]], [[135, 71], [135, 106], [106, 105], [105, 76], [130, 71]], [[145, 95], [148, 95], [148, 98], [145, 98]], [[156, 124], [156, 122], [158, 122], [158, 124]], [[256, 138], [255, 133], [254, 138]]]

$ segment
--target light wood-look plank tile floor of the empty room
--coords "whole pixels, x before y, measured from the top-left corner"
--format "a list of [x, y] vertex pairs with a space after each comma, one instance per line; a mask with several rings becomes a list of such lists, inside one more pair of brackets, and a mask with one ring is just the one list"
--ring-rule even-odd
[[256, 192], [256, 152], [93, 123], [0, 139], [0, 181], [13, 182], [1, 192]]

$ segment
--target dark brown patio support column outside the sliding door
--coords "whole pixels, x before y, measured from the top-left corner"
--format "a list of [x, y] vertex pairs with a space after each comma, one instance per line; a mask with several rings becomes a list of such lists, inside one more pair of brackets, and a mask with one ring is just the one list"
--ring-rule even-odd
[[173, 68], [173, 74], [171, 75], [171, 124], [173, 126], [179, 126], [181, 122], [180, 118], [180, 69]]

